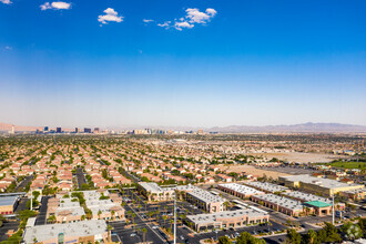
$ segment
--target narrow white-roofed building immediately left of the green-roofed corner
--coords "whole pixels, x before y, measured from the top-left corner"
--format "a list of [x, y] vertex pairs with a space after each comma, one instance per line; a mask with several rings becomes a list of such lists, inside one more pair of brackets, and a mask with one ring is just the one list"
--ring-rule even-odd
[[252, 195], [251, 200], [289, 216], [298, 216], [304, 212], [302, 202], [275, 194]]

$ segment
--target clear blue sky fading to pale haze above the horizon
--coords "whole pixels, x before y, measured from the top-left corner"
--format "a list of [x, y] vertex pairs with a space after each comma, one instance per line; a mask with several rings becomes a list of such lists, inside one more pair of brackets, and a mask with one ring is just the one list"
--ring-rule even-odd
[[365, 12], [364, 0], [0, 0], [0, 122], [366, 125]]

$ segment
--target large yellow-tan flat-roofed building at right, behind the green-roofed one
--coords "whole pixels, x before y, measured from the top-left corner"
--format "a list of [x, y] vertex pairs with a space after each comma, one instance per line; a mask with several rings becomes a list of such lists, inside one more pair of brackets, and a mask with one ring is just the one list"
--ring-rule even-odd
[[285, 186], [298, 187], [305, 192], [319, 193], [325, 196], [364, 187], [364, 185], [359, 184], [347, 184], [329, 179], [313, 177], [308, 174], [279, 176], [278, 181]]

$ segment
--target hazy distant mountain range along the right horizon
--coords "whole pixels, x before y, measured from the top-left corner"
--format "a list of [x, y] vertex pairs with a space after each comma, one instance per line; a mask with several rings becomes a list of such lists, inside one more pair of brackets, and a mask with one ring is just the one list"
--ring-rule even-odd
[[211, 128], [209, 132], [220, 133], [364, 133], [366, 126], [339, 123], [304, 123], [292, 125], [245, 126], [231, 125]]

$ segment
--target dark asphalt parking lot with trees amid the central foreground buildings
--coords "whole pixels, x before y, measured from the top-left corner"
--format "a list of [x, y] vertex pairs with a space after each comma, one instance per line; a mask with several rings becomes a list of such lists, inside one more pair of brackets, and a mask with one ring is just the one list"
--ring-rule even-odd
[[[146, 233], [146, 241], [151, 241], [153, 243], [162, 243], [162, 241], [156, 242], [157, 237], [165, 238], [165, 242], [169, 241], [165, 233], [160, 228], [162, 226], [165, 226], [166, 228], [173, 228], [173, 213], [174, 213], [174, 202], [160, 202], [154, 204], [145, 204], [145, 200], [143, 196], [139, 195], [133, 190], [125, 190], [124, 200], [129, 201], [129, 204], [125, 205], [126, 213], [134, 212], [135, 218], [134, 223], [136, 224], [135, 228], [125, 227], [125, 223], [112, 223], [112, 225], [115, 227], [115, 233], [121, 237], [122, 242], [125, 243], [132, 243], [132, 242], [139, 242], [142, 241], [142, 233], [141, 231], [135, 230], [142, 230], [143, 227], [146, 227], [146, 225], [150, 225], [151, 228], [156, 230], [157, 234], [155, 232], [152, 232], [151, 230], [148, 230]], [[282, 231], [285, 228], [285, 226], [272, 222], [267, 225], [256, 225], [256, 226], [244, 226], [240, 228], [231, 228], [231, 230], [217, 230], [215, 232], [203, 232], [203, 233], [196, 233], [192, 231], [190, 227], [187, 227], [184, 224], [184, 221], [181, 218], [184, 215], [196, 215], [204, 213], [199, 207], [190, 204], [185, 201], [177, 201], [176, 203], [176, 217], [177, 217], [177, 227], [176, 227], [176, 236], [177, 236], [177, 243], [200, 243], [200, 240], [204, 238], [213, 238], [227, 235], [230, 237], [236, 236], [242, 232], [248, 232], [253, 235], [260, 235], [261, 233], [272, 233], [276, 231]], [[230, 207], [230, 210], [235, 210], [235, 206]], [[150, 214], [149, 214], [150, 213]], [[152, 215], [151, 215], [152, 214]], [[150, 217], [151, 216], [151, 217]], [[129, 217], [131, 221], [131, 217]], [[164, 220], [165, 218], [165, 220]], [[155, 236], [154, 236], [155, 235]]]

